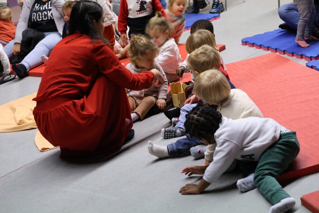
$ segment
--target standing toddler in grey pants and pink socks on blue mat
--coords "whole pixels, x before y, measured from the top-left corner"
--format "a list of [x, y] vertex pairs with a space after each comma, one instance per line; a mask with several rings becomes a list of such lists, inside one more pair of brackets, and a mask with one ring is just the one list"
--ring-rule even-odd
[[310, 44], [307, 44], [305, 40], [319, 41], [318, 38], [311, 35], [315, 28], [313, 24], [316, 14], [314, 0], [293, 0], [293, 4], [296, 5], [301, 16], [298, 22], [295, 42], [300, 47], [309, 47]]

